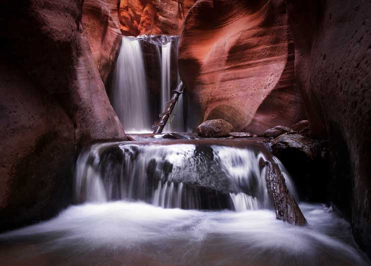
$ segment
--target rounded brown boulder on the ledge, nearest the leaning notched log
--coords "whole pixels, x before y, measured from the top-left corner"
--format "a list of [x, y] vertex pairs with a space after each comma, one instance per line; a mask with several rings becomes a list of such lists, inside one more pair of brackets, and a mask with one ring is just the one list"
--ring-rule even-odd
[[202, 137], [226, 137], [232, 130], [232, 124], [223, 119], [208, 120], [197, 127], [197, 133]]

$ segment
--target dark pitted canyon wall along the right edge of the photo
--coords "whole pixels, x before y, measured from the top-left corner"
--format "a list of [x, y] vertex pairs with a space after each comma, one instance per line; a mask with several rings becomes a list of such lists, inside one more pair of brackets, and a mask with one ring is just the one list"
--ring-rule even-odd
[[371, 255], [371, 2], [287, 0], [311, 134], [328, 137], [329, 199]]

